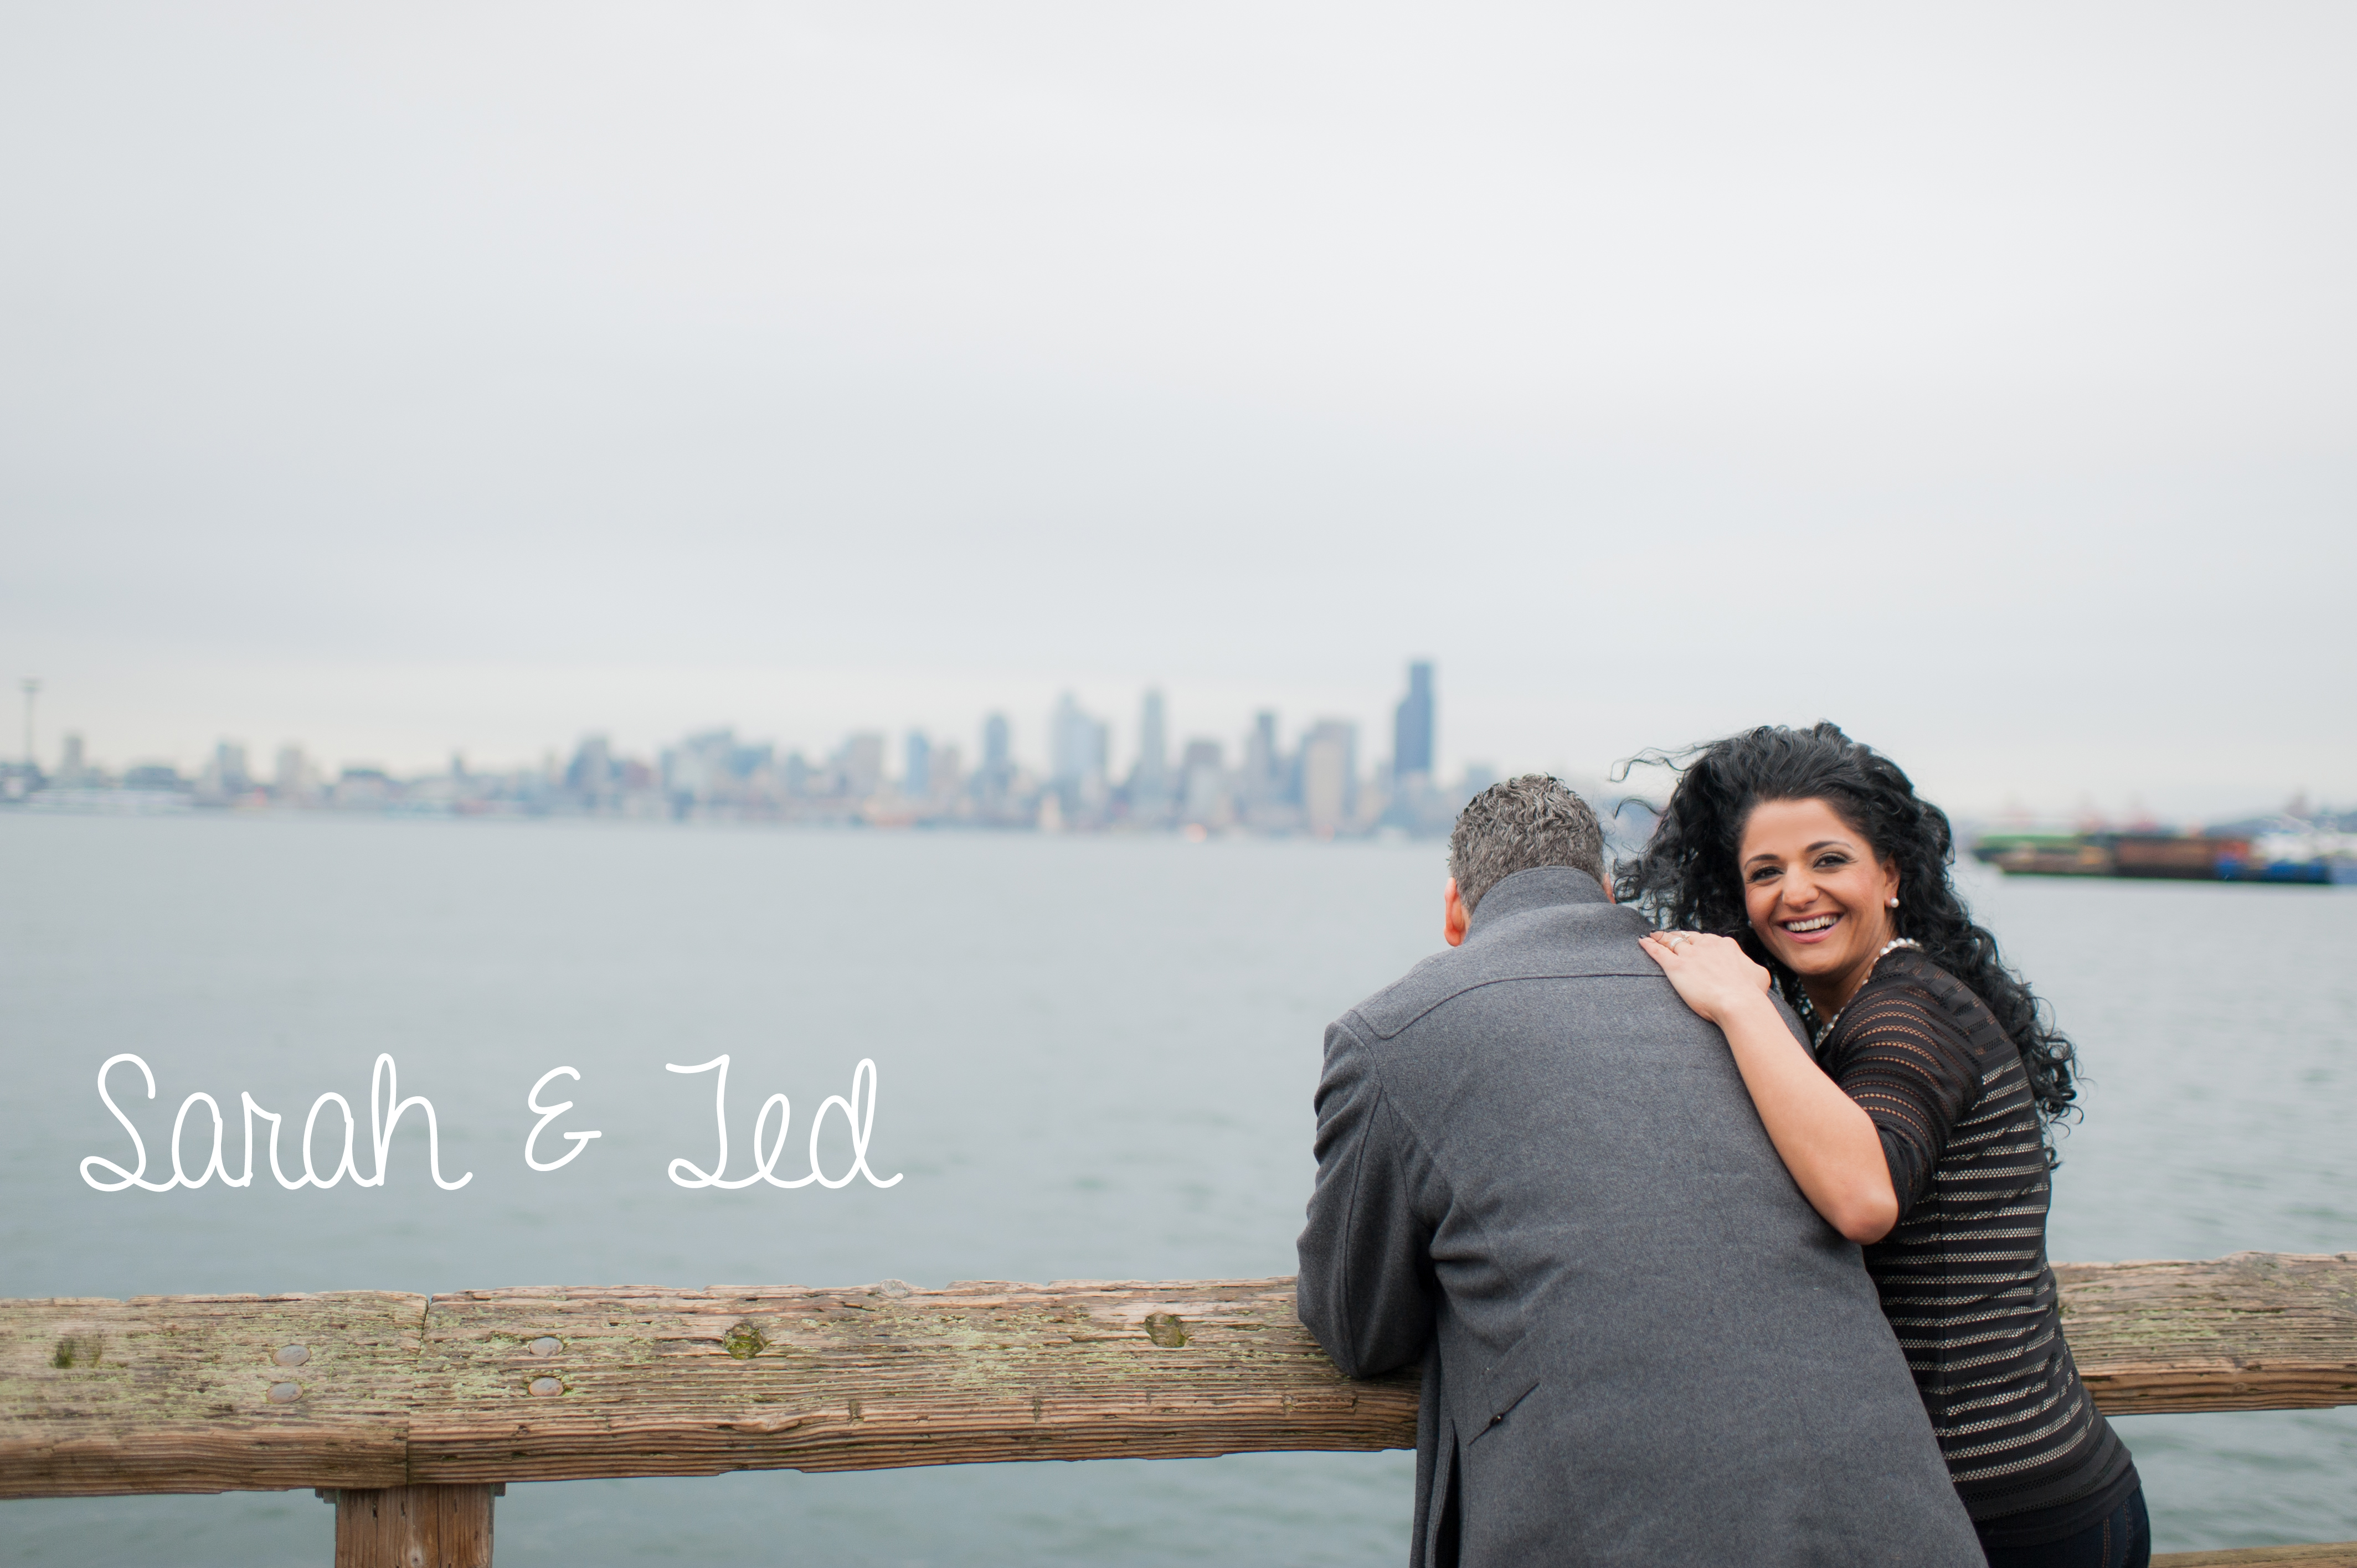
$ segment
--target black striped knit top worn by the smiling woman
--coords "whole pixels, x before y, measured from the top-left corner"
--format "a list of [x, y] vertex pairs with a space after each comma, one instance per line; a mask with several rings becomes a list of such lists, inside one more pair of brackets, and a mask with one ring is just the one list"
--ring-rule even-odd
[[1886, 953], [1817, 1047], [1883, 1137], [1900, 1221], [1867, 1247], [1949, 1476], [1985, 1540], [2095, 1523], [2135, 1488], [2079, 1382], [2046, 1264], [2046, 1141], [2022, 1056], [1923, 953]]

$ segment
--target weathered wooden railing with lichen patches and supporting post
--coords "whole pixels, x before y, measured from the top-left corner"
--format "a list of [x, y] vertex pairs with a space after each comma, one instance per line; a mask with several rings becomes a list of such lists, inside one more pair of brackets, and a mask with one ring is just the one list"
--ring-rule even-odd
[[[2357, 1252], [2055, 1273], [2112, 1415], [2357, 1403]], [[1369, 1450], [1414, 1427], [1414, 1375], [1341, 1377], [1282, 1278], [0, 1302], [0, 1497], [321, 1488], [339, 1566], [488, 1563], [507, 1481]], [[2357, 1547], [2166, 1561], [2357, 1568]]]

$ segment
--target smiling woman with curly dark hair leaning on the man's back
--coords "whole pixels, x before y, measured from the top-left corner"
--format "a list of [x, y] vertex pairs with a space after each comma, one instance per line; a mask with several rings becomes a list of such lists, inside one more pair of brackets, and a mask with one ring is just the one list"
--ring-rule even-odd
[[1666, 762], [1678, 788], [1619, 896], [1664, 927], [1648, 953], [1725, 1033], [1794, 1181], [1867, 1243], [1989, 1563], [2140, 1566], [2143, 1483], [2079, 1382], [2046, 1264], [2072, 1049], [1956, 896], [1947, 816], [1831, 724]]

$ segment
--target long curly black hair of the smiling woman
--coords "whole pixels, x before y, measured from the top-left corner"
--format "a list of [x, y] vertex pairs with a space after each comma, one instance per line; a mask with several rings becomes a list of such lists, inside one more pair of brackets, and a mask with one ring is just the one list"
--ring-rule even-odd
[[1737, 854], [1744, 821], [1758, 802], [1822, 799], [1874, 844], [1876, 856], [1897, 865], [1897, 934], [1919, 941], [1930, 962], [1963, 981], [1996, 1014], [2022, 1052], [2039, 1120], [2077, 1113], [2072, 1042], [2053, 1026], [2029, 983], [2006, 969], [1987, 927], [1973, 924], [1949, 879], [1956, 839], [1947, 813], [1919, 797], [1895, 762], [1850, 740], [1838, 724], [1763, 724], [1685, 752], [1643, 752], [1622, 762], [1612, 771], [1615, 780], [1626, 778], [1631, 766], [1669, 766], [1678, 773], [1678, 785], [1645, 851], [1615, 865], [1612, 887], [1622, 903], [1645, 910], [1662, 929], [1732, 936], [1775, 974], [1784, 1000], [1810, 1014], [1798, 976], [1775, 960], [1744, 915]]

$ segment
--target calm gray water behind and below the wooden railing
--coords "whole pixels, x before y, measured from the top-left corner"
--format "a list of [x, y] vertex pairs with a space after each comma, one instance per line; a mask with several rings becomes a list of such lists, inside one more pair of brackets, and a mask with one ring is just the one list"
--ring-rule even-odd
[[[820, 835], [585, 823], [0, 816], [0, 1294], [1292, 1273], [1322, 1023], [1438, 946], [1435, 846]], [[2357, 898], [1970, 882], [2084, 1047], [2062, 1259], [2357, 1250]], [[94, 1193], [207, 1089], [415, 1113], [384, 1188]], [[681, 1191], [771, 1092], [872, 1056], [891, 1191]], [[552, 1066], [563, 1127], [526, 1170]], [[203, 1111], [196, 1122], [210, 1129]], [[325, 1113], [328, 1127], [339, 1122]], [[321, 1158], [330, 1158], [328, 1127]], [[823, 1146], [849, 1162], [841, 1118]], [[290, 1129], [292, 1132], [292, 1129]], [[207, 1139], [191, 1137], [196, 1146]], [[339, 1141], [339, 1139], [337, 1139]], [[290, 1139], [292, 1144], [292, 1139]], [[552, 1148], [554, 1144], [554, 1148]], [[566, 1148], [544, 1139], [542, 1155]], [[361, 1155], [363, 1167], [370, 1165]], [[2357, 1537], [2357, 1410], [2121, 1422], [2161, 1549]], [[519, 1485], [500, 1563], [1398, 1563], [1412, 1457], [1240, 1455]], [[0, 1504], [24, 1563], [328, 1561], [309, 1493]]]

